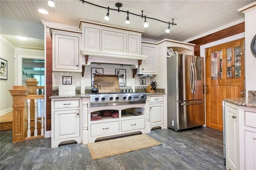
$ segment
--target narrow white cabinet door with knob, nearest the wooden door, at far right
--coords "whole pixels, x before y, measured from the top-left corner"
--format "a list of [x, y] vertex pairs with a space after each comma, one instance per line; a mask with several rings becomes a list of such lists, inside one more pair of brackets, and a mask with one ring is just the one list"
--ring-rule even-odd
[[238, 109], [225, 104], [226, 168], [238, 169]]

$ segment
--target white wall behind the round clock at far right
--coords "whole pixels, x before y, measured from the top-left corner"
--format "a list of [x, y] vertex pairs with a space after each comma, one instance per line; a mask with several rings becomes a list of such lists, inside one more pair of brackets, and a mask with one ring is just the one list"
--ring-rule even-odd
[[[254, 2], [255, 4], [256, 2]], [[250, 44], [256, 35], [256, 6], [244, 11], [245, 14], [245, 89], [246, 96], [248, 91], [256, 90], [256, 57], [252, 55]]]

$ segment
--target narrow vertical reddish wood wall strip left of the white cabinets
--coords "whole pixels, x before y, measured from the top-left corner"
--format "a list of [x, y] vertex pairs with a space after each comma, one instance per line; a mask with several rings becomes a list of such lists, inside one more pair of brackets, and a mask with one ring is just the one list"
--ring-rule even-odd
[[51, 130], [51, 99], [52, 96], [52, 36], [46, 27], [46, 130]]

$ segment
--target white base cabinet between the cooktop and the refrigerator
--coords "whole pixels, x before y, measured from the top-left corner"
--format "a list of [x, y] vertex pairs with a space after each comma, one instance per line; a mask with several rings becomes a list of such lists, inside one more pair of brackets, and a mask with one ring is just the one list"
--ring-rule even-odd
[[149, 100], [150, 129], [164, 128], [164, 96], [150, 96]]

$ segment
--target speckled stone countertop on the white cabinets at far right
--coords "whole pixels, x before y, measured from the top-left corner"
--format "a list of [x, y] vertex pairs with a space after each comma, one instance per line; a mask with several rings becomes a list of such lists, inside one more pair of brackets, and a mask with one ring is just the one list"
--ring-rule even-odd
[[245, 107], [255, 107], [256, 108], [256, 97], [240, 97], [234, 99], [224, 99], [224, 101]]

